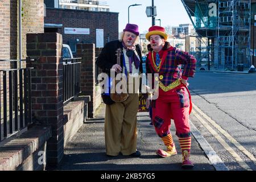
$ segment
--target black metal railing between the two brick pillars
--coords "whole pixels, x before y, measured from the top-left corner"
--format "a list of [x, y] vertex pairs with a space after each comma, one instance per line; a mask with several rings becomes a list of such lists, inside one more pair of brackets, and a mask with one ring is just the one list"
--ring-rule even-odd
[[64, 105], [81, 92], [81, 57], [63, 59], [63, 100]]

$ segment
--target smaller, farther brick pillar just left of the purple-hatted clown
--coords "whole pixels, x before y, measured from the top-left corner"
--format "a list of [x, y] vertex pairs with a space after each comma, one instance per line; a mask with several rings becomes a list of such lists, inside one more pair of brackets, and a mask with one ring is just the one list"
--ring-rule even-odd
[[95, 44], [77, 44], [77, 57], [81, 60], [81, 92], [90, 96], [88, 117], [93, 118], [96, 111]]

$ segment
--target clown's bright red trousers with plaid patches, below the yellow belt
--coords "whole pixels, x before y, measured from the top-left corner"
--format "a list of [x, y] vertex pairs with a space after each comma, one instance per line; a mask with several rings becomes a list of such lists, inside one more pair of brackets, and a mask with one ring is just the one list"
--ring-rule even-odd
[[174, 119], [177, 137], [190, 137], [188, 116], [189, 94], [185, 87], [168, 92], [159, 88], [159, 97], [155, 104], [152, 104], [153, 123], [159, 137], [170, 134], [171, 119]]

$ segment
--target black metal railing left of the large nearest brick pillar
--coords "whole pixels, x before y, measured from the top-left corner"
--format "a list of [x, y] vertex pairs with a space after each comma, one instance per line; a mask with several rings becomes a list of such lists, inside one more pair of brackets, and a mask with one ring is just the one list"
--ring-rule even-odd
[[[33, 68], [17, 68], [17, 64], [22, 61], [34, 60], [0, 60], [0, 142], [32, 124]], [[2, 68], [4, 62], [9, 62], [13, 68]]]

